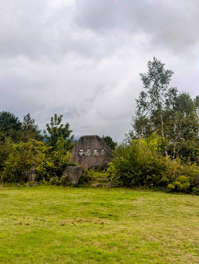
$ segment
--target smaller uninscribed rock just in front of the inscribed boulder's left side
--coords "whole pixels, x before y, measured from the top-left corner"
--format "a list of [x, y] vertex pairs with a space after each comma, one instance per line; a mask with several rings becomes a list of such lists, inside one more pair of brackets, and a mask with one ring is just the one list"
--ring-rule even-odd
[[82, 175], [85, 175], [85, 172], [80, 166], [77, 166], [77, 167], [68, 166], [63, 173], [63, 176], [66, 176], [67, 181], [73, 184], [77, 184], [79, 181], [79, 178]]

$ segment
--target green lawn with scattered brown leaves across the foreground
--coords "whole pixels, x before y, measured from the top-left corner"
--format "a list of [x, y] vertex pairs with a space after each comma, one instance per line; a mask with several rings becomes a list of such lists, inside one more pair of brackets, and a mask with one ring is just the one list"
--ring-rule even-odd
[[0, 263], [199, 263], [199, 197], [0, 188]]

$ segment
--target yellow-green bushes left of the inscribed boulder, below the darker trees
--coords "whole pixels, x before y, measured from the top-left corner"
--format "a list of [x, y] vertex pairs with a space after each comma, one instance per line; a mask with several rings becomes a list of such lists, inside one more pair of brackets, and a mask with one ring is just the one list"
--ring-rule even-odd
[[3, 182], [18, 182], [22, 171], [29, 171], [36, 164], [37, 179], [49, 181], [52, 177], [61, 177], [70, 164], [71, 153], [64, 148], [63, 138], [58, 138], [56, 149], [47, 147], [45, 142], [30, 139], [27, 143], [12, 144], [10, 153], [2, 167]]

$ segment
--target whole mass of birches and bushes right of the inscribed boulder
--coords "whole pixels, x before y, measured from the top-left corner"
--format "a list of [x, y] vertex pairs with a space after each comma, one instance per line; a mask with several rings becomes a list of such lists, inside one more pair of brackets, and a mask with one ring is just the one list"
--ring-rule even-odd
[[[114, 151], [110, 178], [127, 186], [197, 192], [199, 96], [169, 87], [172, 70], [157, 58], [140, 73], [143, 83], [132, 130]], [[197, 192], [199, 194], [199, 191]]]

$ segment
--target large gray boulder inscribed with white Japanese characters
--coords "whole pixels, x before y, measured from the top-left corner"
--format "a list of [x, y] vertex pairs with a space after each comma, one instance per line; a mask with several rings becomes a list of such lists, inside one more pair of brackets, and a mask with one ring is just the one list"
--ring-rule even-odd
[[113, 151], [99, 136], [82, 136], [72, 150], [71, 162], [87, 168], [107, 169]]

